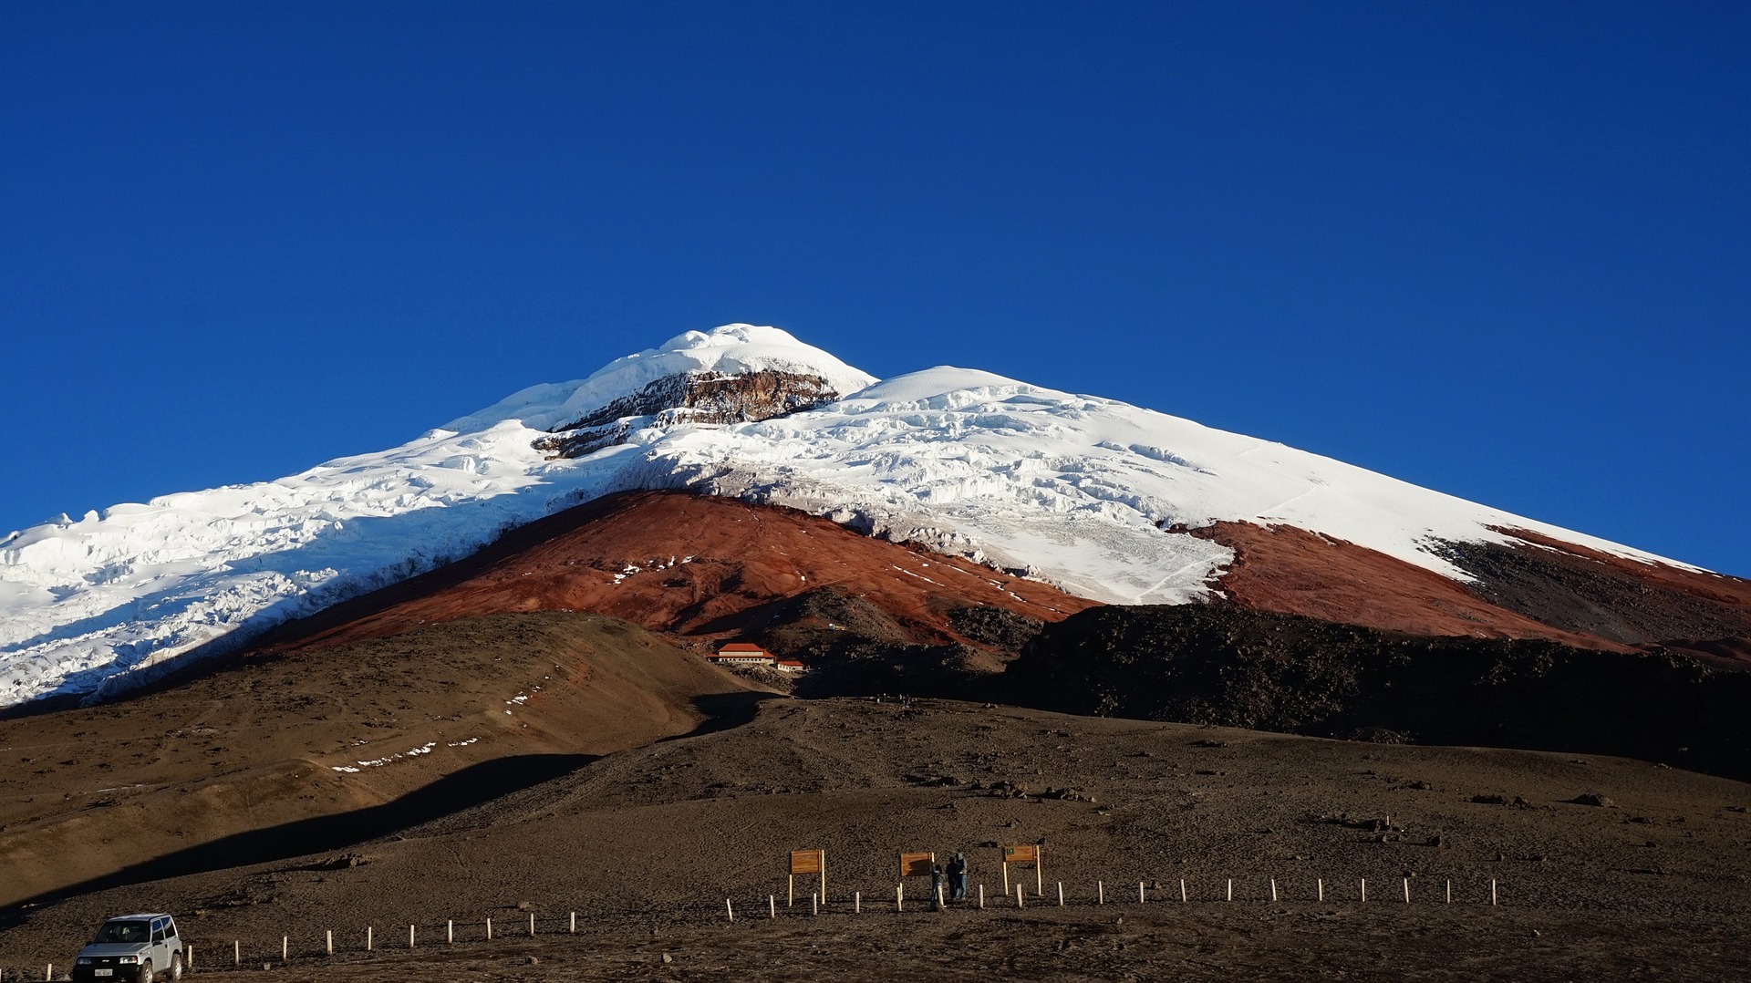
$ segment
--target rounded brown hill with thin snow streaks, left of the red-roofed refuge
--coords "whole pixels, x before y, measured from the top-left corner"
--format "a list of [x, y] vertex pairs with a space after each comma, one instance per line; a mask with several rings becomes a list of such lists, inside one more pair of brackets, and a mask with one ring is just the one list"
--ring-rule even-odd
[[683, 734], [746, 692], [625, 622], [538, 613], [228, 659], [0, 720], [0, 906], [154, 876], [170, 853], [226, 867], [382, 836]]

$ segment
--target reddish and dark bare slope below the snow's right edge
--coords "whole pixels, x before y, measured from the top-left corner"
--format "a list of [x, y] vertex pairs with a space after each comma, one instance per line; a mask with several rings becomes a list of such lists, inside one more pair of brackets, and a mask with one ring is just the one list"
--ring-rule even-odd
[[[1460, 561], [1478, 575], [1478, 583], [1466, 585], [1290, 526], [1217, 522], [1191, 531], [1234, 550], [1219, 587], [1245, 608], [1415, 634], [1548, 638], [1620, 652], [1660, 643], [1712, 661], [1742, 662], [1751, 652], [1751, 582], [1642, 564], [1520, 529], [1504, 533], [1525, 545], [1478, 547]], [[1698, 636], [1677, 634], [1681, 627], [1695, 627]]]

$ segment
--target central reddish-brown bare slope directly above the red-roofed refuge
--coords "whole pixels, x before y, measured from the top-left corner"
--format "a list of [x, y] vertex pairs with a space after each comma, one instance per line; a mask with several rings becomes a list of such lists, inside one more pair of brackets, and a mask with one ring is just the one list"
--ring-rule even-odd
[[608, 496], [508, 533], [473, 557], [289, 626], [268, 648], [352, 643], [504, 612], [595, 612], [679, 634], [760, 627], [763, 608], [819, 587], [958, 638], [977, 603], [1059, 620], [1094, 601], [984, 566], [860, 536], [826, 519], [685, 492]]

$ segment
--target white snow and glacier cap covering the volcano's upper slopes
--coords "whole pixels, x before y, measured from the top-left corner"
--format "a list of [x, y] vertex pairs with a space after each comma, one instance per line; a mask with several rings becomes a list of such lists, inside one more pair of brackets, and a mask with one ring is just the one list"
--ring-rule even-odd
[[[532, 447], [655, 378], [760, 370], [821, 375], [849, 396], [763, 422], [636, 428], [580, 459]], [[1107, 603], [1208, 596], [1231, 552], [1163, 527], [1215, 520], [1299, 526], [1455, 578], [1424, 547], [1504, 541], [1492, 526], [1672, 562], [1154, 410], [947, 366], [876, 382], [776, 328], [730, 324], [524, 389], [390, 450], [12, 533], [0, 540], [0, 706], [124, 689], [560, 508], [679, 487], [826, 515]]]

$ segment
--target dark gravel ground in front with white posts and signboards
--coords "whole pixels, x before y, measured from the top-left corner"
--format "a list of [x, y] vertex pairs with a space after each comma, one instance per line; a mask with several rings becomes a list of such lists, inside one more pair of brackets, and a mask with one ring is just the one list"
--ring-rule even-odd
[[[65, 964], [100, 918], [151, 908], [179, 915], [205, 965], [229, 958], [231, 939], [252, 965], [278, 964], [289, 934], [294, 958], [278, 972], [310, 979], [336, 971], [686, 979], [755, 969], [828, 979], [919, 969], [1725, 979], [1740, 978], [1751, 957], [1740, 930], [1751, 901], [1747, 804], [1742, 783], [1621, 759], [774, 697], [746, 725], [613, 753], [350, 857], [200, 873], [28, 909], [0, 932], [0, 964], [39, 972], [51, 958]], [[1016, 911], [998, 897], [995, 845], [1038, 841], [1047, 897]], [[809, 915], [811, 878], [798, 878], [797, 908], [784, 906], [793, 848], [826, 850], [819, 918]], [[926, 883], [914, 880], [914, 902], [897, 915], [898, 850], [944, 860], [967, 850], [989, 908], [930, 911]], [[1031, 887], [1028, 867], [1012, 874]], [[1326, 902], [1313, 899], [1315, 878]], [[1488, 904], [1490, 878], [1499, 908]], [[1072, 901], [1063, 911], [1059, 880]], [[1107, 906], [1093, 904], [1096, 880]], [[851, 892], [861, 892], [863, 915], [847, 911]], [[769, 895], [777, 922], [763, 916]], [[725, 899], [741, 913], [735, 925]], [[573, 909], [581, 937], [550, 937]], [[517, 939], [529, 913], [539, 936]], [[499, 936], [490, 944], [489, 916]], [[457, 944], [436, 948], [450, 918]], [[410, 922], [434, 948], [404, 951]], [[375, 953], [361, 951], [366, 925]], [[317, 955], [326, 929], [341, 950], [333, 969]], [[539, 962], [524, 962], [529, 955]]]

